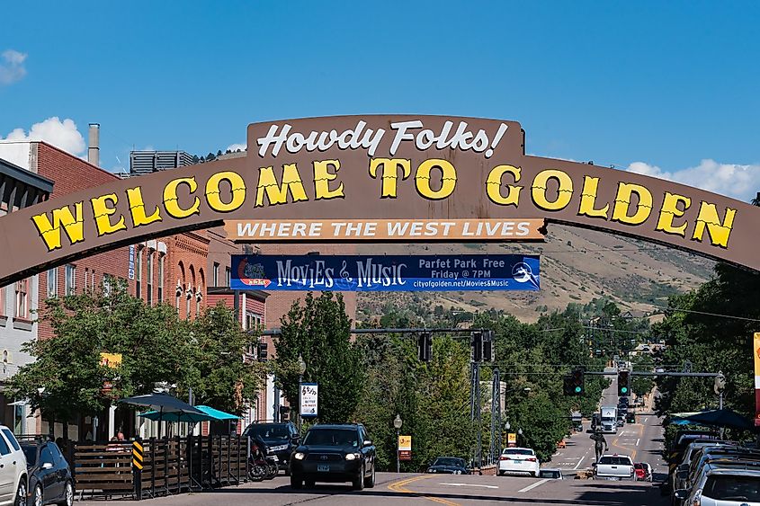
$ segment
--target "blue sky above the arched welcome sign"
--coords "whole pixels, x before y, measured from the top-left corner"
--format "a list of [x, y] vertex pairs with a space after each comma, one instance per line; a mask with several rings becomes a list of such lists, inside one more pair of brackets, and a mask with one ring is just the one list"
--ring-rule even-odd
[[744, 199], [760, 191], [760, 3], [100, 1], [32, 10], [3, 6], [15, 21], [0, 31], [0, 137], [50, 117], [83, 134], [97, 121], [110, 169], [133, 146], [224, 150], [261, 120], [416, 112], [518, 120], [533, 154], [693, 184], [717, 172], [721, 186], [711, 190]]

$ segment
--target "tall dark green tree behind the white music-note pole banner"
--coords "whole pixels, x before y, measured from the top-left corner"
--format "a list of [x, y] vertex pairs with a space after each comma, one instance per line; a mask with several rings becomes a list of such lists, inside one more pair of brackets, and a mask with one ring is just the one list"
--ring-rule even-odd
[[349, 422], [362, 391], [360, 352], [351, 342], [351, 319], [343, 296], [308, 292], [282, 317], [274, 341], [274, 370], [292, 406], [299, 404], [299, 356], [306, 363], [304, 381], [319, 384], [320, 422]]

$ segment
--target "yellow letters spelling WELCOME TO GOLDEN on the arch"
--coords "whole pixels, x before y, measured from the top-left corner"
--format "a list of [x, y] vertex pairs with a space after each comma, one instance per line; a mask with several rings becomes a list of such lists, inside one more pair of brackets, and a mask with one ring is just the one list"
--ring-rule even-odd
[[[140, 186], [125, 191], [125, 195], [108, 193], [89, 200], [93, 210], [95, 232], [98, 236], [118, 234], [128, 227], [148, 226], [163, 217], [184, 219], [201, 214], [230, 213], [240, 209], [246, 200], [254, 200], [253, 208], [290, 205], [308, 200], [332, 200], [345, 197], [344, 182], [340, 181], [341, 163], [338, 159], [315, 161], [306, 168], [297, 164], [284, 164], [279, 178], [272, 166], [258, 170], [255, 188], [249, 189], [242, 175], [232, 171], [212, 173], [205, 181], [196, 176], [179, 177], [167, 182], [160, 202], [146, 203]], [[419, 197], [425, 200], [444, 200], [456, 190], [458, 173], [452, 162], [440, 158], [422, 161], [416, 167], [404, 158], [370, 158], [368, 176], [380, 182], [380, 198], [397, 199], [398, 186], [407, 180], [414, 169], [414, 186]], [[304, 178], [308, 171], [311, 177]], [[523, 210], [523, 216], [543, 211], [577, 209], [577, 216], [617, 221], [629, 226], [652, 223], [654, 229], [668, 235], [689, 236], [702, 241], [705, 232], [711, 245], [728, 247], [736, 209], [719, 209], [713, 203], [700, 201], [693, 222], [684, 219], [692, 199], [676, 193], [665, 193], [665, 198], [653, 209], [652, 192], [646, 187], [627, 182], [615, 182], [615, 196], [610, 202], [598, 202], [598, 177], [584, 176], [583, 182], [574, 185], [572, 177], [559, 169], [546, 169], [537, 173], [530, 186], [521, 183], [522, 170], [509, 164], [494, 166], [487, 174], [484, 191], [487, 199], [497, 206], [514, 206]], [[306, 183], [305, 183], [306, 182]], [[307, 192], [307, 186], [309, 191]], [[550, 190], [552, 189], [552, 190]], [[202, 191], [201, 197], [199, 190]], [[249, 191], [250, 190], [250, 191]], [[312, 191], [313, 190], [313, 191]], [[524, 195], [523, 190], [530, 191]], [[362, 191], [362, 188], [359, 188]], [[312, 195], [309, 198], [308, 194]], [[117, 204], [126, 198], [129, 212], [121, 213]], [[367, 195], [367, 199], [371, 196]], [[250, 205], [250, 204], [249, 204]], [[62, 247], [66, 233], [71, 244], [85, 240], [85, 201], [53, 209], [31, 217], [49, 251]], [[696, 207], [696, 206], [695, 206]], [[88, 213], [89, 214], [89, 213]], [[126, 215], [126, 216], [125, 216]], [[722, 216], [721, 216], [722, 215]], [[131, 224], [128, 224], [128, 217]], [[219, 215], [216, 219], [225, 219]]]

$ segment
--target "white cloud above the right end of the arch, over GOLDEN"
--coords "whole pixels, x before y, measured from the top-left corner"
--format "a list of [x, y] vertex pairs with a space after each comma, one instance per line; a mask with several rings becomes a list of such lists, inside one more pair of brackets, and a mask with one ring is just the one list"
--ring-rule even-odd
[[719, 164], [706, 159], [695, 167], [666, 171], [644, 162], [634, 162], [626, 169], [631, 173], [681, 182], [702, 190], [749, 201], [760, 191], [760, 165]]

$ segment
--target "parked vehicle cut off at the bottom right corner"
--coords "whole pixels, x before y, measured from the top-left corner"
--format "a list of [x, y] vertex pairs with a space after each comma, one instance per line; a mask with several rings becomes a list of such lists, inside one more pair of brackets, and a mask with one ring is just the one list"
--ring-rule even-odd
[[760, 503], [760, 468], [708, 465], [690, 489], [676, 490], [675, 499], [700, 506]]

